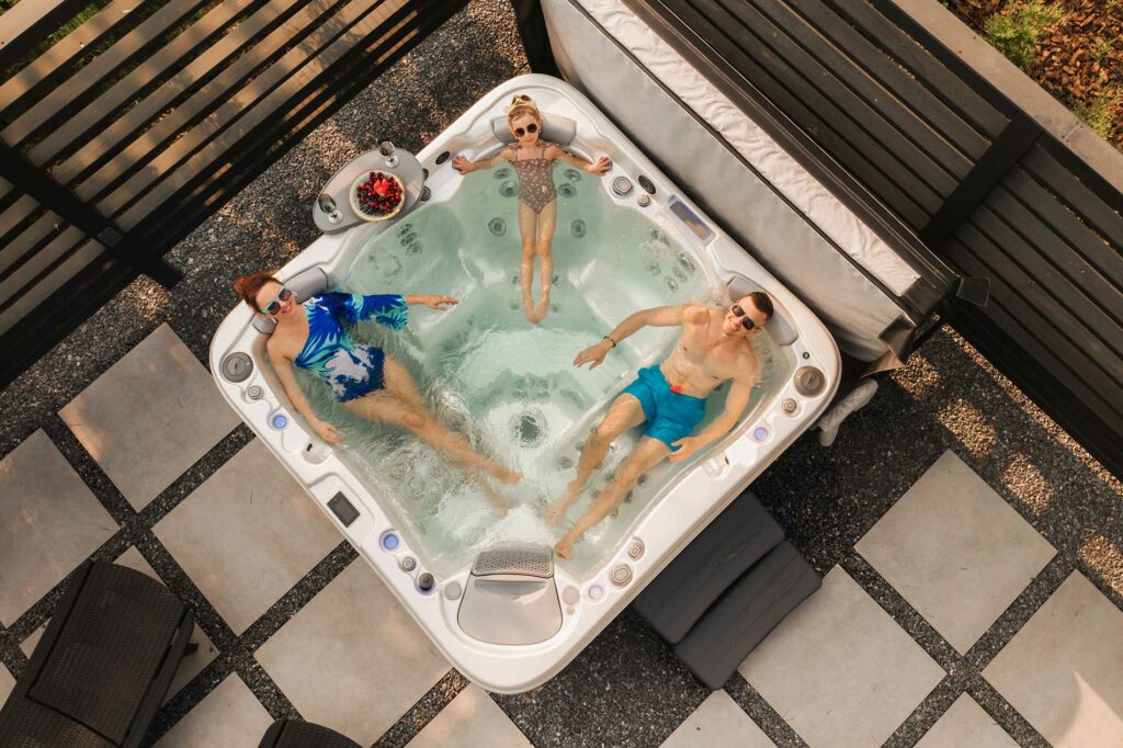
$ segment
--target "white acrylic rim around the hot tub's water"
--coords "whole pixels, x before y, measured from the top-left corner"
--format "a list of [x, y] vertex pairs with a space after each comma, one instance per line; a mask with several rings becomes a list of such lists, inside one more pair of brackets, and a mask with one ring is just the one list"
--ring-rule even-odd
[[[418, 154], [422, 165], [431, 172], [427, 182], [432, 190], [431, 202], [447, 200], [463, 179], [451, 170], [448, 162], [437, 165], [437, 156], [448, 150], [453, 154], [464, 153], [469, 158], [478, 157], [481, 153], [497, 147], [491, 136], [491, 120], [502, 113], [503, 106], [515, 92], [530, 93], [544, 111], [576, 120], [576, 150], [585, 154], [604, 153], [613, 159], [615, 167], [602, 185], [611, 199], [620, 204], [628, 204], [633, 210], [647, 211], [649, 217], [657, 211], [666, 211], [666, 200], [677, 194], [674, 185], [584, 95], [557, 79], [542, 75], [513, 79], [491, 91]], [[640, 174], [648, 176], [657, 188], [654, 204], [647, 208], [636, 207], [636, 198], [640, 192], [638, 188], [627, 198], [611, 194], [608, 190], [609, 182], [612, 176], [621, 173], [633, 180]], [[703, 220], [707, 220], [696, 206], [682, 195], [677, 197]], [[417, 589], [416, 578], [420, 572], [426, 571], [424, 558], [410, 549], [405, 537], [394, 553], [381, 547], [383, 533], [394, 528], [392, 519], [383, 511], [378, 496], [373, 495], [327, 445], [314, 439], [305, 430], [303, 422], [294, 418], [287, 399], [265, 362], [265, 336], [253, 328], [250, 310], [245, 304], [239, 304], [227, 316], [214, 335], [210, 354], [211, 371], [216, 373], [219, 390], [227, 401], [394, 591], [449, 662], [466, 677], [487, 690], [501, 693], [526, 691], [560, 671], [682, 548], [814, 422], [838, 386], [839, 355], [834, 341], [798, 299], [712, 224], [716, 238], [706, 246], [700, 246], [677, 219], [672, 217], [664, 224], [676, 234], [675, 238], [682, 246], [705, 257], [705, 264], [716, 270], [722, 279], [741, 275], [763, 286], [776, 300], [777, 305], [786, 310], [798, 329], [798, 339], [784, 349], [786, 355], [794, 357], [794, 367], [818, 367], [824, 374], [828, 386], [818, 396], [809, 399], [798, 394], [788, 378], [778, 385], [778, 391], [773, 396], [766, 398], [756, 408], [750, 418], [711, 446], [694, 465], [684, 469], [670, 487], [665, 490], [657, 505], [640, 518], [632, 535], [628, 536], [640, 538], [646, 547], [638, 560], [628, 557], [629, 542], [626, 540], [617, 549], [612, 560], [588, 578], [577, 580], [566, 571], [564, 562], [556, 564], [558, 592], [562, 593], [570, 585], [575, 586], [581, 592], [581, 600], [574, 606], [563, 603], [562, 629], [539, 645], [487, 645], [460, 631], [456, 623], [459, 600], [449, 601], [442, 593], [454, 582], [465, 586], [468, 569], [464, 568], [453, 577], [439, 578], [436, 591], [422, 594]], [[285, 265], [281, 275], [290, 277], [302, 270], [320, 266], [327, 271], [331, 282], [337, 283], [344, 277], [357, 253], [382, 230], [385, 230], [384, 225], [360, 226], [339, 235], [321, 236]], [[777, 240], [783, 240], [783, 237], [777, 237]], [[427, 291], [439, 292], [440, 289]], [[248, 380], [235, 384], [226, 381], [219, 372], [222, 358], [238, 350], [253, 356], [255, 367]], [[254, 385], [263, 387], [265, 393], [257, 401], [252, 401], [246, 395], [247, 390]], [[780, 402], [785, 399], [796, 401], [797, 411], [794, 414], [785, 414], [780, 410]], [[276, 412], [289, 416], [292, 422], [287, 428], [276, 430], [270, 426], [268, 419]], [[751, 436], [759, 426], [765, 426], [769, 432], [763, 444], [758, 444]], [[358, 519], [347, 528], [327, 508], [327, 502], [340, 491], [359, 510]], [[418, 558], [418, 568], [411, 573], [403, 572], [399, 563], [404, 556]], [[608, 573], [610, 568], [624, 563], [632, 569], [632, 581], [623, 587], [617, 587], [609, 581]], [[593, 586], [603, 590], [600, 600], [590, 598], [588, 591]]]

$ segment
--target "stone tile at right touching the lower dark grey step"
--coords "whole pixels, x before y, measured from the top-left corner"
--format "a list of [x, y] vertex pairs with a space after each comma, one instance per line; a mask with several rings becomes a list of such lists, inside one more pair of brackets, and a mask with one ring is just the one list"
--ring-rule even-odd
[[812, 748], [880, 746], [943, 677], [838, 566], [738, 669]]

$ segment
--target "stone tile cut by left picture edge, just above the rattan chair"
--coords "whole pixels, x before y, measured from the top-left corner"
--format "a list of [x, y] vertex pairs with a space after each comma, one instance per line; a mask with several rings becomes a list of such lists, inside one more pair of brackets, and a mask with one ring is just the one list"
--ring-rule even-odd
[[0, 460], [0, 620], [20, 614], [117, 531], [42, 430]]

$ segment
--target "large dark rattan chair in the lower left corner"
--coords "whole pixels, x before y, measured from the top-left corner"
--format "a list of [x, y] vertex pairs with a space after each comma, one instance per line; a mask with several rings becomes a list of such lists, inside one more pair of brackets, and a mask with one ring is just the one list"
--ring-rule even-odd
[[156, 580], [84, 564], [0, 710], [0, 746], [139, 746], [191, 631], [191, 612]]

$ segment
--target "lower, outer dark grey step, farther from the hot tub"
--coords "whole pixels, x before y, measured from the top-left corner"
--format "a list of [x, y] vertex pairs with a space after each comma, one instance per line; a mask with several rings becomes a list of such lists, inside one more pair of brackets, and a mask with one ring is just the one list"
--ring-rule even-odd
[[822, 580], [789, 541], [776, 546], [741, 577], [675, 647], [702, 683], [720, 688], [749, 653]]

